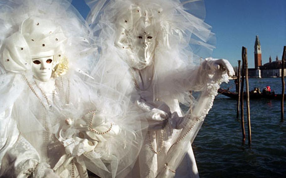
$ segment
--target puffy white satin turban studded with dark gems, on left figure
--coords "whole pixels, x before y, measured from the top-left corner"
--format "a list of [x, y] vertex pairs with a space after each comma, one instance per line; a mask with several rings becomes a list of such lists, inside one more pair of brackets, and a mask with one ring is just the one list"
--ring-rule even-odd
[[56, 65], [66, 39], [61, 27], [52, 20], [30, 17], [23, 21], [20, 32], [5, 39], [3, 65], [8, 71], [22, 72], [30, 69], [32, 59], [47, 56], [54, 56]]

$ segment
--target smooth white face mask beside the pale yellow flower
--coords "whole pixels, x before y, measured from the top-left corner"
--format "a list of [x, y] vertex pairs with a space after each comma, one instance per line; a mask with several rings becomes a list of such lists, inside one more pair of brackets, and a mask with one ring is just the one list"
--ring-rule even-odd
[[52, 63], [54, 57], [47, 56], [33, 59], [33, 76], [39, 81], [48, 81], [52, 76]]

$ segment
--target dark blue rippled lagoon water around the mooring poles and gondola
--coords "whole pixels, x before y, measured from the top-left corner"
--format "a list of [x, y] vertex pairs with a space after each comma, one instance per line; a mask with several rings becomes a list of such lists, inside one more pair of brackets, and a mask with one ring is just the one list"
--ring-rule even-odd
[[[250, 79], [249, 82], [250, 90], [260, 87], [262, 91], [263, 87], [270, 85], [276, 93], [281, 93], [280, 78]], [[231, 80], [222, 87], [230, 87], [230, 91], [234, 91], [234, 81]], [[280, 101], [250, 100], [250, 118], [251, 148], [247, 144], [246, 118], [246, 144], [241, 142], [240, 118], [236, 119], [236, 100], [223, 95], [216, 97], [193, 142], [201, 178], [286, 177], [286, 120], [280, 122]]]

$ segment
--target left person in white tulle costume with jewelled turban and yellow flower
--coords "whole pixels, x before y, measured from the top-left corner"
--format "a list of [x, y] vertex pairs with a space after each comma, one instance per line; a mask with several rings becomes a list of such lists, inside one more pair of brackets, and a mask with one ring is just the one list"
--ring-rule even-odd
[[125, 177], [143, 142], [138, 112], [100, 83], [77, 11], [1, 1], [0, 24], [0, 177]]

